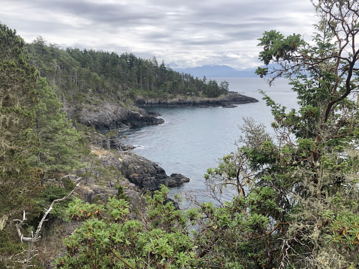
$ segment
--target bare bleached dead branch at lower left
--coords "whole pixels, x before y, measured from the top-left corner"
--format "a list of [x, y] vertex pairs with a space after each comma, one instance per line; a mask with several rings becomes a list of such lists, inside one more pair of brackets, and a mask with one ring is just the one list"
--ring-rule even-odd
[[[64, 176], [64, 177], [66, 177], [66, 176]], [[78, 178], [78, 180], [80, 180], [80, 179], [81, 178]], [[32, 265], [29, 265], [29, 263], [31, 263], [32, 259], [37, 256], [36, 252], [38, 250], [38, 247], [34, 248], [35, 242], [37, 242], [41, 238], [40, 230], [42, 228], [43, 223], [45, 221], [47, 221], [46, 217], [47, 217], [48, 213], [50, 213], [50, 211], [52, 210], [53, 205], [55, 203], [57, 203], [57, 202], [61, 202], [61, 201], [65, 200], [65, 199], [69, 198], [71, 195], [73, 195], [75, 193], [75, 190], [80, 186], [80, 183], [81, 183], [81, 181], [76, 185], [76, 187], [67, 196], [52, 201], [50, 207], [48, 209], [46, 209], [46, 212], [44, 213], [41, 221], [39, 222], [39, 225], [37, 226], [36, 232], [35, 233], [31, 232], [31, 237], [25, 237], [23, 235], [22, 231], [21, 231], [22, 226], [24, 224], [26, 224], [25, 221], [27, 220], [26, 219], [26, 214], [27, 213], [25, 213], [25, 210], [24, 210], [24, 213], [23, 213], [22, 220], [13, 220], [13, 221], [17, 221], [15, 226], [16, 226], [16, 229], [18, 231], [18, 235], [20, 237], [21, 242], [23, 242], [23, 241], [28, 241], [29, 242], [28, 250], [24, 250], [22, 252], [22, 253], [26, 252], [25, 259], [23, 260], [23, 269], [26, 269], [28, 266], [32, 266]], [[19, 253], [19, 254], [22, 254], [22, 253]], [[19, 254], [17, 254], [17, 255], [19, 255]]]

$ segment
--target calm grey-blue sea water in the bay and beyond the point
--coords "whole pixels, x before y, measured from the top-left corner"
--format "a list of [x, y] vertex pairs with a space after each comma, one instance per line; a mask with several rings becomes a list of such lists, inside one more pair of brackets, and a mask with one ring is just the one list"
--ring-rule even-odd
[[[286, 79], [277, 80], [271, 87], [259, 78], [216, 79], [217, 82], [223, 80], [229, 82], [230, 91], [256, 98], [259, 102], [236, 108], [148, 107], [146, 109], [161, 113], [160, 118], [165, 122], [120, 133], [120, 136], [128, 137], [129, 144], [138, 146], [133, 152], [157, 162], [167, 175], [181, 173], [191, 179], [174, 192], [204, 194], [203, 175], [208, 168], [217, 166], [219, 158], [236, 150], [234, 142], [241, 136], [238, 126], [243, 124], [243, 117], [254, 118], [270, 131], [273, 117], [258, 89], [288, 109], [298, 108], [296, 94]], [[227, 199], [232, 198], [231, 192], [227, 191], [225, 195]]]

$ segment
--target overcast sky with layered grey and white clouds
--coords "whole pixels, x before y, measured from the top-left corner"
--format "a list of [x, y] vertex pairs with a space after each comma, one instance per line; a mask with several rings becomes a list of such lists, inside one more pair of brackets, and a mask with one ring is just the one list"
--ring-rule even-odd
[[265, 30], [311, 40], [309, 0], [1, 0], [0, 21], [26, 42], [132, 52], [180, 67], [260, 65]]

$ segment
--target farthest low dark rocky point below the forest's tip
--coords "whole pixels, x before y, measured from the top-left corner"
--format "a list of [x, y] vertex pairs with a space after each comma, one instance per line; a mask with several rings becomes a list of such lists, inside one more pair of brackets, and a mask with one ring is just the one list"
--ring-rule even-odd
[[256, 103], [257, 99], [238, 93], [229, 93], [219, 98], [201, 98], [182, 96], [171, 100], [137, 98], [135, 104], [139, 106], [165, 107], [234, 107], [234, 104]]

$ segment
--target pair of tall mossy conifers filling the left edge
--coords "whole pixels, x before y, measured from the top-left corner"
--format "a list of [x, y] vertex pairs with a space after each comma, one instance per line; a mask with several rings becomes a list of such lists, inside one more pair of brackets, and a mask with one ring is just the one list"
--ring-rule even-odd
[[83, 167], [80, 155], [87, 153], [56, 94], [28, 63], [24, 48], [16, 31], [0, 24], [1, 268], [22, 267], [15, 255], [23, 246], [10, 217], [31, 212], [28, 229], [37, 226], [34, 220], [41, 218], [43, 207], [68, 193], [47, 189], [47, 180]]

